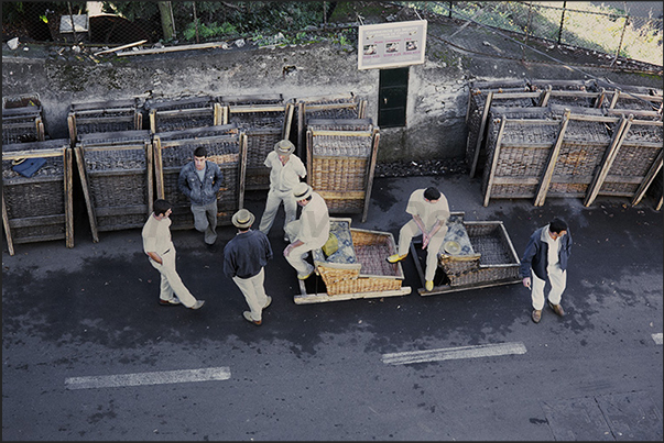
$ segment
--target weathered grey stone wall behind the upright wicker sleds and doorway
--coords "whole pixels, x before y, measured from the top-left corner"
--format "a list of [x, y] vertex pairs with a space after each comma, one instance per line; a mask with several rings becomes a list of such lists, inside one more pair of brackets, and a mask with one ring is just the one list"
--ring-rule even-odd
[[[33, 54], [35, 51], [32, 52]], [[285, 99], [353, 92], [378, 123], [379, 70], [358, 70], [357, 52], [331, 44], [287, 48], [197, 49], [98, 57], [70, 48], [43, 57], [2, 57], [2, 95], [39, 93], [46, 133], [68, 137], [72, 102], [179, 95], [272, 95]], [[453, 64], [454, 65], [454, 64]], [[381, 129], [379, 160], [460, 157], [467, 130], [467, 80], [457, 65], [410, 67], [406, 126]]]

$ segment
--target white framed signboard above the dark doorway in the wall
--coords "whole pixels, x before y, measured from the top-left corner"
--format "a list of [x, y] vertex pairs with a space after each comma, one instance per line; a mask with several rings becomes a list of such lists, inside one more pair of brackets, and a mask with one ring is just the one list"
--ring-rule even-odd
[[358, 33], [358, 69], [424, 63], [426, 20], [367, 24]]

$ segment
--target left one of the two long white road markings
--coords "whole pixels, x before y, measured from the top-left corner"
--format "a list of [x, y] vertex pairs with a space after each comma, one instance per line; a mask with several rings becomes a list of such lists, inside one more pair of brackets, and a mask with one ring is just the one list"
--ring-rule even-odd
[[208, 367], [200, 369], [164, 370], [159, 373], [69, 377], [65, 379], [65, 387], [67, 389], [117, 388], [121, 386], [227, 380], [229, 378], [230, 368]]

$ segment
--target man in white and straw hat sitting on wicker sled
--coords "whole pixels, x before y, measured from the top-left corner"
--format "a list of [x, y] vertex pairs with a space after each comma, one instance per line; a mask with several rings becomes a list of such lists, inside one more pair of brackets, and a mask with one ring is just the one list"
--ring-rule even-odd
[[305, 182], [293, 188], [293, 196], [302, 207], [300, 219], [286, 224], [286, 235], [291, 243], [284, 250], [284, 257], [297, 270], [297, 278], [307, 279], [314, 266], [304, 257], [315, 248], [323, 247], [329, 237], [329, 212], [327, 203], [314, 189]]

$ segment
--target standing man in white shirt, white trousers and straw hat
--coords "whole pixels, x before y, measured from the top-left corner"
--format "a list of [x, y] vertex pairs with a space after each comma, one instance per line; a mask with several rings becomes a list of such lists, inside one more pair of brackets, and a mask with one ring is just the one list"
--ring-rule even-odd
[[[295, 146], [287, 140], [274, 144], [274, 151], [265, 157], [265, 166], [270, 168], [270, 190], [265, 211], [261, 218], [259, 231], [268, 235], [279, 207], [283, 202], [285, 211], [284, 231], [286, 224], [295, 220], [297, 203], [293, 198], [293, 187], [306, 177], [306, 168], [302, 160], [293, 154]], [[284, 240], [289, 239], [284, 235]]]

